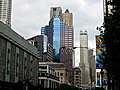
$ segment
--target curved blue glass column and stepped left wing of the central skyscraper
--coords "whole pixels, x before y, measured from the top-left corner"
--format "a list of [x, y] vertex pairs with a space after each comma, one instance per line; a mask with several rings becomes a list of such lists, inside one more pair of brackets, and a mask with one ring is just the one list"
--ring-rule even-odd
[[51, 18], [49, 25], [41, 28], [41, 34], [48, 36], [48, 43], [52, 45], [53, 50], [53, 61], [60, 62], [60, 31], [61, 27], [61, 18], [55, 17]]

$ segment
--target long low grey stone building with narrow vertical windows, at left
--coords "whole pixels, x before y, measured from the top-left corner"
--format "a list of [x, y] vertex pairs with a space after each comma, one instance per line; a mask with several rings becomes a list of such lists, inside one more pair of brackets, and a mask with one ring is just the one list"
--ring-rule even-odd
[[0, 22], [0, 81], [38, 84], [37, 49]]

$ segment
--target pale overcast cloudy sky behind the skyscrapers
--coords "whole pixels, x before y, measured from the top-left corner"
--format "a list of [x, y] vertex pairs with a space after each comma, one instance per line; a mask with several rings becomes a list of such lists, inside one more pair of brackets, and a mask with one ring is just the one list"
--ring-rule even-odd
[[[25, 39], [39, 35], [41, 27], [48, 25], [50, 7], [59, 6], [73, 13], [75, 47], [80, 45], [80, 30], [88, 31], [88, 46], [95, 48], [97, 26], [103, 22], [102, 0], [12, 0], [12, 29]], [[75, 50], [78, 66], [79, 48]]]

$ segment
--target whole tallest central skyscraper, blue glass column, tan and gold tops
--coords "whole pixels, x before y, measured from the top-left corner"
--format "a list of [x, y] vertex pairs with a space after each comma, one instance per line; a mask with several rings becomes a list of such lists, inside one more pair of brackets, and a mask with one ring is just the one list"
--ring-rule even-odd
[[41, 28], [41, 34], [47, 35], [48, 42], [53, 46], [53, 61], [62, 62], [66, 65], [70, 83], [72, 82], [74, 57], [73, 33], [72, 13], [69, 13], [67, 9], [62, 14], [61, 7], [51, 7], [49, 25]]

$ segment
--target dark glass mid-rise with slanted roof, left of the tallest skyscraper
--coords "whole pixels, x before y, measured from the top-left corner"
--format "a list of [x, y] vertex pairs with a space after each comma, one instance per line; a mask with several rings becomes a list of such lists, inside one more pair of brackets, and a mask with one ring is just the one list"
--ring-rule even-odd
[[27, 41], [38, 49], [40, 62], [52, 61], [52, 49], [50, 44], [48, 44], [48, 37], [46, 35], [37, 35], [27, 39]]

